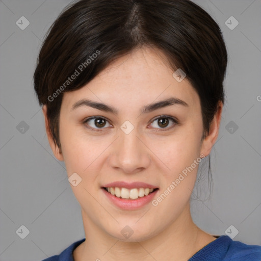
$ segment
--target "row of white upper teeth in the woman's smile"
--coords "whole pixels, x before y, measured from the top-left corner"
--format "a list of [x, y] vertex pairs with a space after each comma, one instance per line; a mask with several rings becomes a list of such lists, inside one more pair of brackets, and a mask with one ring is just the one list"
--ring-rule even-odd
[[131, 198], [131, 199], [136, 199], [138, 197], [144, 197], [147, 196], [150, 192], [152, 192], [154, 189], [149, 189], [149, 188], [140, 188], [140, 189], [131, 189], [128, 190], [126, 188], [106, 188], [106, 190], [111, 193], [112, 195], [115, 195], [116, 197], [121, 197], [121, 198]]

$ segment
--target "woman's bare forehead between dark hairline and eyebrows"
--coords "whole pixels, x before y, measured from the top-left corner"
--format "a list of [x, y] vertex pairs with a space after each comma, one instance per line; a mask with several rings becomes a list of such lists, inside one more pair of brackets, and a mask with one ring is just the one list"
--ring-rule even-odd
[[[158, 49], [142, 48], [118, 58], [102, 70], [86, 86], [66, 92], [63, 103], [71, 107], [74, 102], [91, 98], [123, 108], [137, 107], [167, 97], [185, 100], [190, 107], [198, 106], [199, 97], [186, 79], [176, 81], [165, 55]], [[118, 105], [118, 106], [117, 106]]]

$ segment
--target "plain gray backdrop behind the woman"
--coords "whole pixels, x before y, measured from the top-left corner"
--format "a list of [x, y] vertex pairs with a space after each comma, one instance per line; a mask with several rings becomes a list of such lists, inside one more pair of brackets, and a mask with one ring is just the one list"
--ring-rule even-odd
[[[207, 199], [207, 179], [201, 180], [194, 189], [193, 220], [212, 234], [225, 234], [233, 225], [239, 230], [234, 240], [261, 245], [261, 2], [194, 2], [220, 25], [229, 62], [227, 100], [219, 138], [211, 152], [212, 195]], [[41, 41], [69, 3], [0, 1], [0, 260], [41, 260], [85, 237], [80, 205], [64, 163], [58, 162], [49, 148], [33, 90]], [[16, 25], [21, 16], [30, 21], [24, 30]], [[239, 21], [233, 30], [225, 24], [230, 16]], [[28, 124], [28, 130], [22, 129], [21, 121]], [[201, 166], [206, 176], [207, 162]], [[21, 225], [30, 230], [25, 239], [16, 233]]]

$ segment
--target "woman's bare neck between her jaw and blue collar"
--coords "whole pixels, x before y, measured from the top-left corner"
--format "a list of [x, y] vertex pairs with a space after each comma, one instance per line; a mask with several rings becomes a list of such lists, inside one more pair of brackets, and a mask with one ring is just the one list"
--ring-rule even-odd
[[199, 229], [190, 215], [189, 204], [175, 222], [155, 237], [141, 242], [124, 242], [111, 237], [82, 211], [86, 240], [74, 252], [75, 261], [188, 260], [215, 240]]

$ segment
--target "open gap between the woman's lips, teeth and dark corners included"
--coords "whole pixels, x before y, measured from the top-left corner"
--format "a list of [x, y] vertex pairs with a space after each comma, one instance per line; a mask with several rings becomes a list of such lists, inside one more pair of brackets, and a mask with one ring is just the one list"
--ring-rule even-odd
[[127, 200], [135, 200], [139, 198], [147, 197], [148, 195], [155, 193], [159, 190], [158, 188], [119, 188], [119, 187], [102, 187], [103, 190], [107, 191], [111, 195]]

